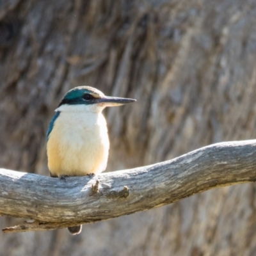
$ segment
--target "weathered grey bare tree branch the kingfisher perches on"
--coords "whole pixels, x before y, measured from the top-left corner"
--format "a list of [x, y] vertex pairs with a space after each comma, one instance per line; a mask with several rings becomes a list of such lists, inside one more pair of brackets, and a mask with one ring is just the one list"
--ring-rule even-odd
[[52, 230], [177, 202], [256, 180], [256, 140], [223, 142], [163, 163], [60, 180], [0, 169], [0, 216], [33, 223], [3, 232]]

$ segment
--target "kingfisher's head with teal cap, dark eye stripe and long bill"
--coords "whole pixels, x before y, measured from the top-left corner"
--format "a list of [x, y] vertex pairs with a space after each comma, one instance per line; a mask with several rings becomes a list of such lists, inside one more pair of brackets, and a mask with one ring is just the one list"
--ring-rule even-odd
[[90, 86], [78, 86], [64, 95], [56, 110], [100, 112], [106, 107], [121, 106], [134, 101], [136, 100], [106, 96]]

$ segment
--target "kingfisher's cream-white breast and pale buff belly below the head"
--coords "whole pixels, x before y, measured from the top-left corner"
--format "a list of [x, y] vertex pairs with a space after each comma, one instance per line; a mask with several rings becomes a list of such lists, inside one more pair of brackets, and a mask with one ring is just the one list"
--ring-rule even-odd
[[53, 175], [100, 173], [108, 162], [109, 139], [102, 113], [61, 111], [47, 142]]

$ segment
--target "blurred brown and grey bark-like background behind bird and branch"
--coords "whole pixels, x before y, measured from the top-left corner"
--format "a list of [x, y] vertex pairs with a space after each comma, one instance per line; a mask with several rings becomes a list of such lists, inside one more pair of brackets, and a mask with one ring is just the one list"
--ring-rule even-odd
[[[49, 175], [47, 126], [83, 84], [138, 100], [104, 111], [107, 171], [255, 138], [256, 1], [0, 1], [1, 168]], [[0, 254], [253, 256], [255, 192], [214, 189], [79, 236], [0, 232]]]

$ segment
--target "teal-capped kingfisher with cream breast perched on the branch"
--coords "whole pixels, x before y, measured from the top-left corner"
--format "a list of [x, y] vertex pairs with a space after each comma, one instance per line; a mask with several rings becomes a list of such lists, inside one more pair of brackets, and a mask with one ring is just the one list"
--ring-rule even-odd
[[[47, 131], [51, 177], [97, 175], [108, 162], [109, 138], [102, 110], [136, 101], [109, 97], [91, 86], [78, 86], [60, 101]], [[79, 234], [81, 225], [68, 227]]]

